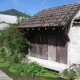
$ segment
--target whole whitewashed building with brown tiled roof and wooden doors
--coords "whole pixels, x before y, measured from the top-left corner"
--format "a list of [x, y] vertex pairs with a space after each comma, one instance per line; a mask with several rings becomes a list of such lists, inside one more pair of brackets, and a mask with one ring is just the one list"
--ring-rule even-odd
[[79, 16], [80, 3], [74, 3], [42, 10], [20, 25], [31, 35], [29, 58], [58, 71], [80, 64]]

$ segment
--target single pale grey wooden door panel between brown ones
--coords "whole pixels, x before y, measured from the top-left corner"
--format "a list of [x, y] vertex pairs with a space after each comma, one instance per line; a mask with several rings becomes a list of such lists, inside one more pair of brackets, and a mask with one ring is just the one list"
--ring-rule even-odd
[[48, 35], [48, 60], [56, 61], [56, 35]]

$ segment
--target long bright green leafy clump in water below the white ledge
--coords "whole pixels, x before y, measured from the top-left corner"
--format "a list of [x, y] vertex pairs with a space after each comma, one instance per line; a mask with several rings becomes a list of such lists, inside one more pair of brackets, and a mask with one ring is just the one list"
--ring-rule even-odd
[[[22, 71], [24, 71], [24, 69], [26, 69], [27, 70], [26, 72], [28, 74], [24, 74], [24, 75], [30, 75], [34, 71], [36, 72], [37, 67], [39, 67], [39, 66], [34, 67], [34, 66], [31, 66], [31, 65], [32, 65], [32, 63], [30, 63], [30, 64], [13, 64], [13, 65], [10, 66], [9, 71], [12, 72], [12, 73], [16, 73], [16, 74], [19, 73], [19, 74], [21, 74]], [[33, 68], [34, 68], [34, 70], [33, 70]], [[52, 73], [52, 72], [48, 71], [47, 69], [43, 69], [43, 71], [36, 72], [36, 73], [40, 73], [40, 75], [35, 75], [35, 76], [50, 77], [50, 78], [56, 78], [56, 79], [59, 77], [57, 73]]]

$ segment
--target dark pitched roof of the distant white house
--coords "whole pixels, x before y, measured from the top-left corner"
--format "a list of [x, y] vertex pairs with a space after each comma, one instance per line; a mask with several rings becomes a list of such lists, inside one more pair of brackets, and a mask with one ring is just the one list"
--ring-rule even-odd
[[10, 10], [6, 10], [6, 11], [2, 11], [2, 12], [0, 11], [0, 14], [14, 15], [14, 16], [16, 16], [16, 15], [19, 15], [19, 16], [26, 15], [26, 14], [20, 12], [20, 11], [15, 10], [15, 9], [10, 9]]

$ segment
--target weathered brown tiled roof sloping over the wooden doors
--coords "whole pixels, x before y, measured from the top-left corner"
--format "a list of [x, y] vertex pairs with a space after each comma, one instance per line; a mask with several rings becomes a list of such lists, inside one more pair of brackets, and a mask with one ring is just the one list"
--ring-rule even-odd
[[80, 3], [42, 10], [20, 25], [19, 28], [65, 27], [80, 8]]

